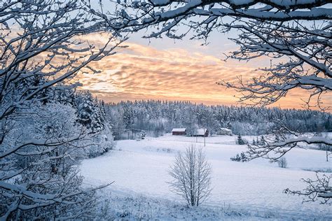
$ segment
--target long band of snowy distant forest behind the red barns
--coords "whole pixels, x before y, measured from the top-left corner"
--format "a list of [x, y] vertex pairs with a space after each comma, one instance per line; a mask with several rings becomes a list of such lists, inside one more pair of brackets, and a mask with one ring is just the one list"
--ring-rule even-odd
[[[207, 128], [216, 134], [222, 127], [233, 134], [261, 135], [276, 129], [281, 123], [293, 131], [332, 131], [331, 113], [317, 110], [259, 108], [239, 106], [207, 106], [188, 101], [122, 101], [104, 104], [106, 121], [114, 131], [144, 130], [152, 136], [185, 127], [191, 134]], [[118, 135], [115, 132], [115, 138]]]

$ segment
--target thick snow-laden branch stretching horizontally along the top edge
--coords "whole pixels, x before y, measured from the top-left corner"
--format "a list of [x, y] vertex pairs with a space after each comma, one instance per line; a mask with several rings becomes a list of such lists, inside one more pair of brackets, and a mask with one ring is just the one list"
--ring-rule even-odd
[[[116, 29], [137, 31], [160, 27], [150, 37], [174, 33], [172, 22], [193, 27], [193, 17], [204, 24], [223, 17], [240, 17], [261, 21], [328, 20], [328, 1], [114, 1], [118, 10], [109, 22]], [[101, 15], [105, 17], [105, 15]], [[217, 25], [217, 24], [216, 24]], [[167, 27], [168, 26], [168, 27]], [[162, 28], [164, 27], [164, 28]], [[166, 27], [166, 28], [165, 28]], [[203, 34], [203, 33], [200, 33]], [[169, 36], [174, 36], [170, 34]]]

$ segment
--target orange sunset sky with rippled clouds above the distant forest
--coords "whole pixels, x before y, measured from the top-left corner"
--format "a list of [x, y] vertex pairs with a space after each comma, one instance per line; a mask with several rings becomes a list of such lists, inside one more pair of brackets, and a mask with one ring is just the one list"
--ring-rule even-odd
[[[267, 58], [251, 62], [228, 60], [224, 53], [235, 50], [237, 45], [224, 34], [212, 34], [208, 45], [202, 41], [169, 38], [147, 39], [134, 34], [124, 43], [128, 48], [118, 49], [116, 55], [95, 63], [102, 70], [98, 74], [78, 76], [83, 90], [107, 102], [141, 99], [185, 100], [204, 104], [237, 104], [234, 90], [216, 85], [219, 80], [235, 80], [258, 76], [258, 67], [270, 65]], [[104, 42], [106, 37], [95, 34], [90, 41]], [[301, 108], [300, 99], [307, 93], [297, 90], [277, 102], [281, 108]], [[331, 106], [327, 97], [325, 105]], [[237, 104], [239, 105], [239, 104]]]

